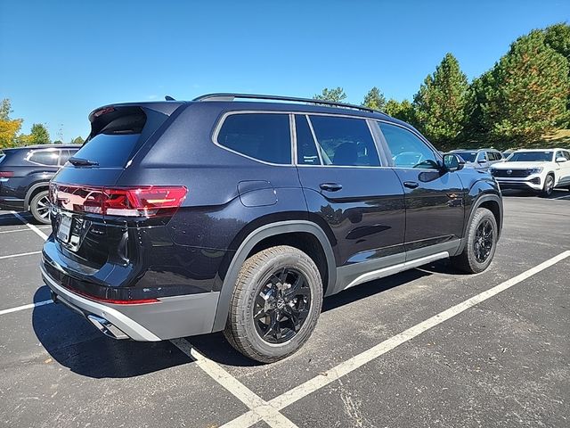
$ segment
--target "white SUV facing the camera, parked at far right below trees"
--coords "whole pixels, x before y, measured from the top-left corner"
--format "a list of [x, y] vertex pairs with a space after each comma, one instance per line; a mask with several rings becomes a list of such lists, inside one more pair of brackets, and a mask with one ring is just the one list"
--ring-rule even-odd
[[550, 196], [555, 187], [570, 188], [570, 151], [517, 150], [490, 170], [501, 189], [533, 190]]

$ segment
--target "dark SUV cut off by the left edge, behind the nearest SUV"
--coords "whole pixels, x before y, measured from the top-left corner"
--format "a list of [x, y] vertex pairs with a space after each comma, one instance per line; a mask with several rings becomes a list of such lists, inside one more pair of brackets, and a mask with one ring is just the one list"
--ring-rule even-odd
[[49, 224], [49, 182], [78, 144], [28, 145], [0, 150], [0, 210], [30, 211]]

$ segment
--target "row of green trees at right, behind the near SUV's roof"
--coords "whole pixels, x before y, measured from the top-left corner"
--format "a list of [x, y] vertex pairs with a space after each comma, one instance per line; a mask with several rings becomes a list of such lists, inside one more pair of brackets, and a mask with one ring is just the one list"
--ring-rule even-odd
[[[346, 100], [342, 87], [316, 100]], [[452, 53], [419, 86], [412, 100], [386, 100], [378, 86], [362, 105], [418, 128], [443, 150], [460, 146], [525, 146], [570, 128], [570, 26], [558, 23], [518, 37], [491, 70], [468, 81]]]

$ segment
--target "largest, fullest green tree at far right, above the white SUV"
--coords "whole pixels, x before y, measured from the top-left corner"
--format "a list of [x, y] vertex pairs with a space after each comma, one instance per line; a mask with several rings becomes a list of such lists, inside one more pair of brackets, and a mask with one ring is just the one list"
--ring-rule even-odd
[[519, 37], [481, 78], [483, 128], [495, 140], [536, 140], [567, 120], [568, 62], [542, 31]]

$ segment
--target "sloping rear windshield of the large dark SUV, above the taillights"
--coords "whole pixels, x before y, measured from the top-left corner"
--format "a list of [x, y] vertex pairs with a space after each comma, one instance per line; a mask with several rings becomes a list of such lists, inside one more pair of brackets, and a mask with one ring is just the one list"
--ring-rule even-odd
[[94, 161], [100, 167], [124, 168], [134, 155], [141, 134], [99, 134], [73, 156]]

